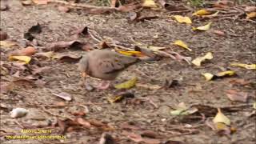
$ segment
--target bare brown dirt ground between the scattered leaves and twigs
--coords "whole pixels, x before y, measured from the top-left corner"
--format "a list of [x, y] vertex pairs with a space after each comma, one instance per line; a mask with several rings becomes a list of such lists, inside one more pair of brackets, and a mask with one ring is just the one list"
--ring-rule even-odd
[[[122, 102], [110, 103], [107, 98], [118, 93], [118, 90], [86, 90], [81, 85], [81, 77], [77, 65], [58, 60], [40, 61], [40, 66], [50, 66], [50, 70], [41, 74], [46, 82], [44, 86], [15, 86], [8, 94], [1, 94], [1, 143], [98, 143], [102, 133], [110, 134], [118, 143], [136, 143], [123, 134], [124, 131], [141, 134], [151, 130], [160, 142], [168, 143], [241, 143], [250, 144], [256, 141], [256, 116], [248, 116], [254, 109], [255, 102], [255, 70], [246, 70], [230, 66], [230, 62], [256, 63], [256, 36], [255, 23], [235, 21], [230, 19], [210, 19], [213, 30], [222, 30], [225, 36], [210, 31], [197, 33], [191, 26], [175, 22], [172, 18], [163, 18], [166, 14], [158, 11], [145, 10], [145, 14], [158, 14], [162, 18], [146, 20], [144, 22], [129, 22], [126, 13], [85, 14], [81, 10], [63, 13], [57, 10], [54, 4], [42, 6], [22, 6], [18, 0], [10, 1], [10, 10], [1, 11], [1, 29], [6, 31], [9, 39], [20, 40], [23, 34], [31, 27], [40, 23], [42, 33], [35, 34], [39, 44], [46, 46], [51, 42], [70, 40], [70, 30], [88, 26], [102, 38], [113, 38], [118, 42], [131, 44], [133, 38], [150, 46], [170, 46], [174, 40], [181, 39], [193, 51], [183, 50], [171, 46], [179, 54], [197, 58], [212, 52], [214, 58], [205, 62], [199, 68], [188, 65], [186, 62], [174, 61], [171, 58], [162, 58], [154, 62], [140, 62], [130, 66], [114, 83], [124, 82], [137, 76], [138, 82], [145, 85], [163, 86], [166, 81], [178, 81], [178, 86], [152, 90], [146, 87], [135, 86], [129, 91], [135, 98], [126, 98]], [[194, 26], [202, 26], [206, 21], [195, 21]], [[155, 37], [158, 35], [158, 38]], [[81, 38], [89, 41], [88, 38]], [[94, 40], [90, 42], [97, 44]], [[5, 50], [1, 50], [3, 62]], [[62, 50], [62, 54], [86, 54], [85, 50]], [[234, 70], [238, 76], [222, 78], [206, 82], [202, 73], [218, 73], [222, 70]], [[1, 81], [10, 80], [10, 75], [1, 75]], [[245, 79], [251, 85], [234, 85], [230, 81]], [[89, 82], [98, 82], [88, 78]], [[232, 102], [226, 97], [226, 90], [241, 90], [249, 94], [248, 102]], [[66, 106], [56, 106], [57, 102], [64, 102], [52, 93], [66, 92], [72, 95], [73, 100], [65, 102]], [[174, 117], [170, 110], [180, 102], [186, 106], [211, 106], [214, 114], [193, 117]], [[155, 106], [154, 106], [155, 105]], [[54, 107], [55, 106], [55, 107]], [[10, 118], [10, 110], [22, 107], [29, 110], [23, 118]], [[43, 110], [45, 107], [46, 110]], [[218, 134], [206, 125], [211, 121], [217, 110], [225, 109], [224, 114], [230, 118], [234, 134]], [[57, 118], [75, 118], [73, 112], [85, 110], [86, 119], [94, 119], [106, 123], [113, 130], [80, 129], [66, 132], [65, 140], [10, 140], [6, 135], [21, 135], [22, 129], [42, 127], [46, 129]], [[231, 110], [232, 109], [232, 110]], [[207, 110], [204, 110], [207, 112]], [[204, 113], [202, 112], [202, 114]], [[134, 126], [132, 130], [124, 130], [124, 123]], [[51, 126], [51, 134], [59, 134], [59, 126]], [[128, 128], [129, 129], [129, 128]], [[139, 142], [138, 142], [139, 143]], [[143, 143], [143, 142], [141, 142]]]

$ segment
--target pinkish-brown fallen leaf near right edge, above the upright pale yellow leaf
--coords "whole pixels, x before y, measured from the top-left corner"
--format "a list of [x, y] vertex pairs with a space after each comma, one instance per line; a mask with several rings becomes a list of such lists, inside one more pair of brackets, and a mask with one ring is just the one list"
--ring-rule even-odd
[[226, 96], [230, 98], [231, 101], [247, 102], [248, 93], [237, 90], [226, 90]]

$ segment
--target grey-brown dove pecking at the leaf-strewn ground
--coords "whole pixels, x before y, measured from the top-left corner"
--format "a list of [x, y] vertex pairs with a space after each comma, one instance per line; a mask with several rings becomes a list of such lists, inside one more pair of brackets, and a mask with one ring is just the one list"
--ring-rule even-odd
[[82, 55], [78, 62], [78, 70], [82, 73], [83, 78], [89, 75], [101, 79], [102, 82], [96, 88], [106, 90], [111, 81], [117, 78], [123, 70], [140, 61], [140, 58], [119, 54], [115, 51], [91, 50]]

